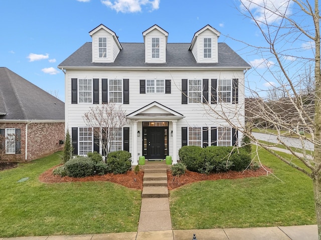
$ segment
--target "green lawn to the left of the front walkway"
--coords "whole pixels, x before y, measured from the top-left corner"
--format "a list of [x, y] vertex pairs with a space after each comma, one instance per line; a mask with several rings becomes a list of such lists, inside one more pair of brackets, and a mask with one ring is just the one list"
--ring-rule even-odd
[[[40, 182], [60, 154], [0, 171], [0, 237], [137, 231], [140, 190], [103, 181]], [[23, 177], [29, 179], [17, 182]]]

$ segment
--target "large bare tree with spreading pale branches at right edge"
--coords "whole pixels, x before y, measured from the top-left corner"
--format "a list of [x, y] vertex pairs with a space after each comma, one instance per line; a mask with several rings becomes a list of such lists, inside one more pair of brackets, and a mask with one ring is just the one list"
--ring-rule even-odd
[[[240, 127], [244, 116], [237, 116], [236, 113], [242, 112], [242, 106], [224, 106], [230, 107], [232, 113], [226, 113], [220, 104], [208, 104], [206, 107], [211, 117], [224, 119], [249, 136], [252, 142], [312, 179], [318, 239], [321, 239], [321, 77], [318, 7], [318, 0], [241, 0], [240, 9], [256, 25], [264, 39], [261, 45], [247, 44], [248, 47], [251, 47], [255, 56], [273, 63], [267, 64], [267, 70], [261, 73], [261, 79], [275, 82], [277, 86], [276, 92], [270, 92], [270, 95], [260, 89], [249, 87], [250, 99], [255, 107], [247, 109], [247, 120], [252, 127], [276, 129], [278, 143], [286, 146], [305, 167], [300, 167], [281, 156], [270, 147], [271, 145], [260, 142], [248, 127]], [[260, 74], [259, 69], [256, 72]], [[307, 92], [302, 91], [302, 88], [307, 90], [313, 100], [306, 101]], [[268, 91], [271, 91], [271, 88]], [[281, 95], [275, 94], [279, 91]], [[267, 99], [267, 96], [270, 96], [270, 99]], [[237, 123], [230, 117], [233, 116], [233, 112], [234, 119], [236, 116], [239, 119]], [[309, 134], [301, 134], [302, 129]], [[285, 134], [295, 135], [300, 140], [302, 155], [284, 141], [284, 131]], [[314, 145], [312, 156], [306, 153], [306, 141]]]

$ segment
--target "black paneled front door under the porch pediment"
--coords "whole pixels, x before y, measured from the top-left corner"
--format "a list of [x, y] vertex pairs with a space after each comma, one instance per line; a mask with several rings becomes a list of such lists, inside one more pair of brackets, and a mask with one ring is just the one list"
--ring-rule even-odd
[[164, 127], [148, 127], [147, 158], [164, 158]]

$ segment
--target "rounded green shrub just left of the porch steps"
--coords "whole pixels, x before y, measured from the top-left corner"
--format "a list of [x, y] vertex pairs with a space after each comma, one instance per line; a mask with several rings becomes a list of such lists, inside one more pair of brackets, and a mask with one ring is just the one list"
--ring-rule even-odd
[[130, 152], [113, 151], [107, 155], [107, 165], [109, 172], [114, 174], [125, 173], [131, 167]]

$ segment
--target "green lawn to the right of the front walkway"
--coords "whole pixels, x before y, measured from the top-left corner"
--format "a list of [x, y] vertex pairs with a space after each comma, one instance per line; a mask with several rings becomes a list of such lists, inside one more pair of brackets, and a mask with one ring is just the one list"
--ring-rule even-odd
[[259, 154], [276, 177], [202, 181], [172, 190], [173, 228], [316, 224], [312, 180], [263, 149]]

